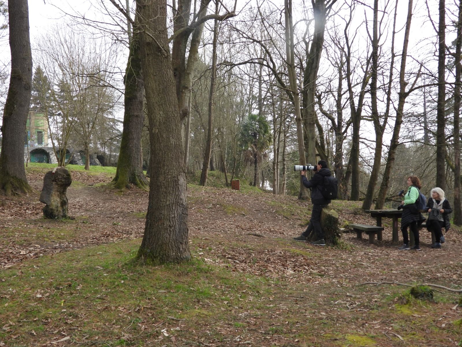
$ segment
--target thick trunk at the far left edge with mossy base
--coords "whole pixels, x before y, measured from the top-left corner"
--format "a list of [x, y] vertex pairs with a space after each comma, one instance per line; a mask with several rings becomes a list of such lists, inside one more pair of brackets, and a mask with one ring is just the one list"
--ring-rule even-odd
[[31, 191], [24, 170], [24, 137], [32, 90], [32, 54], [27, 0], [8, 1], [11, 77], [3, 112], [0, 192]]

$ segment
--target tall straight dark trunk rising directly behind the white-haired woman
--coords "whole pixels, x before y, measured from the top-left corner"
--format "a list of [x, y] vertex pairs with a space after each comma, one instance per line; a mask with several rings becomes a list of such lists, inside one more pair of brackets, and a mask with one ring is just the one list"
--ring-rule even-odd
[[437, 103], [437, 130], [436, 130], [436, 186], [446, 190], [446, 172], [444, 170], [444, 158], [446, 157], [446, 138], [444, 136], [445, 123], [445, 64], [446, 64], [446, 43], [445, 43], [445, 2], [439, 0], [439, 24], [438, 24], [438, 103]]

